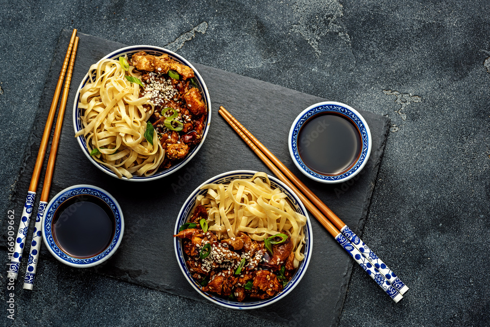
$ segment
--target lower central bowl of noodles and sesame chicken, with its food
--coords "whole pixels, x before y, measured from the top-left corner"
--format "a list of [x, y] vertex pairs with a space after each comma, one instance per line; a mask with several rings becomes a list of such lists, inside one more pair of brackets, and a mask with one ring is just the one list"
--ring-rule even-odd
[[289, 293], [311, 255], [303, 205], [260, 172], [229, 172], [201, 185], [179, 213], [174, 236], [191, 285], [234, 308], [260, 307]]

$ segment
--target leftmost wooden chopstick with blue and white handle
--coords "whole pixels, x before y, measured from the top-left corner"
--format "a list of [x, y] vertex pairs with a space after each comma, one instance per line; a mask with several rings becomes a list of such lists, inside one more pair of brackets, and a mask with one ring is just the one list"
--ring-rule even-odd
[[22, 260], [22, 253], [24, 251], [25, 235], [29, 229], [29, 222], [34, 206], [34, 201], [36, 199], [36, 191], [39, 184], [39, 176], [41, 175], [41, 170], [43, 168], [44, 158], [46, 155], [46, 148], [48, 147], [49, 135], [51, 134], [51, 128], [56, 114], [56, 107], [58, 106], [58, 100], [63, 86], [63, 80], [65, 79], [66, 70], [68, 67], [68, 62], [70, 60], [70, 54], [72, 53], [73, 43], [75, 41], [76, 29], [73, 29], [72, 37], [70, 43], [68, 44], [68, 49], [65, 54], [65, 60], [63, 61], [63, 66], [61, 68], [60, 75], [58, 77], [58, 82], [56, 84], [56, 89], [54, 90], [53, 99], [51, 101], [51, 106], [49, 108], [48, 118], [46, 120], [46, 125], [44, 127], [43, 137], [41, 139], [41, 144], [39, 145], [39, 150], [37, 153], [36, 163], [34, 165], [34, 170], [32, 172], [32, 177], [27, 191], [27, 197], [25, 200], [24, 209], [22, 211], [22, 218], [19, 223], [19, 229], [17, 237], [15, 238], [15, 246], [12, 257], [10, 258], [10, 264], [8, 269], [8, 278], [17, 279], [19, 273], [19, 265]]

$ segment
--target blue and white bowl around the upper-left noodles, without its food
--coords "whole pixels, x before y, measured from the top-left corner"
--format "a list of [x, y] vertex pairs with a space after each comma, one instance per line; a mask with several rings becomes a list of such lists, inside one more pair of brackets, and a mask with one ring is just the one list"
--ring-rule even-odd
[[[118, 49], [116, 51], [113, 51], [113, 52], [109, 53], [108, 55], [106, 55], [105, 57], [103, 57], [100, 60], [103, 60], [103, 59], [116, 59], [117, 60], [120, 56], [124, 56], [125, 54], [127, 54], [128, 58], [130, 58], [133, 54], [135, 54], [137, 52], [140, 52], [140, 51], [145, 51], [148, 54], [152, 54], [152, 55], [155, 55], [155, 56], [160, 56], [160, 55], [166, 53], [173, 60], [175, 60], [175, 61], [177, 61], [177, 62], [179, 62], [181, 64], [184, 64], [184, 65], [189, 66], [190, 68], [192, 68], [194, 70], [194, 74], [195, 74], [194, 80], [196, 81], [196, 83], [198, 85], [198, 88], [201, 91], [201, 94], [203, 95], [203, 99], [202, 100], [206, 104], [206, 108], [208, 109], [208, 114], [207, 114], [206, 122], [204, 124], [204, 130], [202, 132], [201, 141], [199, 142], [199, 144], [197, 144], [197, 146], [194, 149], [192, 149], [187, 154], [187, 157], [185, 158], [185, 160], [183, 160], [182, 162], [180, 162], [180, 163], [178, 163], [178, 164], [170, 167], [169, 169], [165, 169], [165, 170], [159, 171], [159, 172], [157, 172], [156, 174], [154, 174], [152, 176], [146, 177], [146, 176], [136, 176], [136, 175], [133, 175], [133, 177], [132, 178], [129, 178], [129, 179], [126, 178], [126, 177], [124, 177], [124, 176], [121, 178], [123, 180], [132, 181], [132, 182], [152, 181], [152, 180], [155, 180], [155, 179], [159, 179], [159, 178], [168, 176], [168, 175], [172, 174], [173, 172], [175, 172], [175, 171], [179, 170], [180, 168], [182, 168], [186, 163], [188, 163], [189, 161], [191, 161], [191, 159], [196, 155], [197, 151], [199, 151], [199, 149], [201, 148], [202, 144], [204, 143], [204, 140], [206, 139], [206, 135], [208, 134], [209, 124], [211, 123], [211, 99], [209, 97], [209, 92], [208, 92], [208, 88], [206, 87], [206, 83], [204, 83], [204, 80], [202, 79], [201, 75], [196, 70], [196, 68], [190, 62], [188, 62], [186, 59], [184, 59], [183, 57], [179, 56], [175, 52], [172, 52], [170, 50], [167, 50], [167, 49], [165, 49], [163, 47], [154, 47], [154, 46], [130, 46], [130, 47], [123, 47], [123, 48], [120, 48], [120, 49]], [[81, 124], [81, 119], [80, 119], [81, 110], [78, 108], [78, 100], [79, 100], [79, 97], [80, 97], [80, 90], [85, 86], [85, 84], [88, 82], [88, 80], [89, 80], [89, 74], [87, 72], [87, 74], [85, 75], [85, 77], [83, 77], [83, 80], [80, 83], [80, 86], [78, 87], [78, 90], [76, 91], [75, 100], [73, 102], [73, 127], [74, 127], [74, 130], [75, 130], [75, 133], [77, 133], [79, 130], [82, 129], [82, 124]], [[115, 178], [118, 178], [118, 176], [112, 170], [110, 170], [106, 166], [98, 163], [97, 161], [95, 161], [92, 158], [92, 156], [90, 155], [90, 151], [87, 148], [87, 144], [86, 144], [86, 141], [85, 141], [85, 138], [83, 137], [83, 135], [79, 136], [77, 138], [77, 141], [78, 141], [78, 144], [80, 145], [80, 147], [82, 149], [82, 152], [90, 160], [91, 163], [93, 163], [94, 165], [96, 165], [96, 167], [98, 169], [102, 170], [106, 174], [111, 175], [111, 176], [113, 176]]]

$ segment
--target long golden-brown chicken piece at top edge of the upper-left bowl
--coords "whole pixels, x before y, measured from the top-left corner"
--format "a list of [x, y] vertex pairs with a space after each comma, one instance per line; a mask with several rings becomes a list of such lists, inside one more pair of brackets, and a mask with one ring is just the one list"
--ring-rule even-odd
[[190, 67], [176, 62], [168, 54], [155, 57], [148, 55], [145, 51], [140, 51], [133, 54], [131, 64], [138, 70], [156, 71], [159, 73], [168, 73], [169, 70], [175, 70], [184, 79], [194, 77], [194, 71]]

